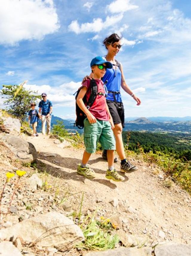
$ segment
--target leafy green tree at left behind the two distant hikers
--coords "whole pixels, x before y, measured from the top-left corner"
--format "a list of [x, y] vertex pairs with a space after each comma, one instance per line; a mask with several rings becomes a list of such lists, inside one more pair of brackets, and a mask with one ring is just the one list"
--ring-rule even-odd
[[[25, 83], [25, 82], [24, 82]], [[26, 90], [21, 85], [3, 85], [0, 93], [3, 95], [4, 105], [7, 105], [7, 112], [19, 118], [21, 123], [26, 119], [30, 109], [30, 103], [40, 99], [35, 91]]]

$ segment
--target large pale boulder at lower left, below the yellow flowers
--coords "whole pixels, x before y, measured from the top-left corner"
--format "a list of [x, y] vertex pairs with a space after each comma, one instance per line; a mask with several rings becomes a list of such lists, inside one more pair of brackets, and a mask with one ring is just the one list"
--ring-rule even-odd
[[81, 229], [57, 212], [41, 214], [0, 230], [0, 239], [18, 236], [24, 241], [35, 242], [38, 247], [55, 247], [61, 252], [84, 240]]

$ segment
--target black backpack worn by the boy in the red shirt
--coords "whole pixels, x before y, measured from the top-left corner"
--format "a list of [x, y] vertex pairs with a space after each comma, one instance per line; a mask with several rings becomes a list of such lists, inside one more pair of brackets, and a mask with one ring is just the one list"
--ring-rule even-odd
[[[106, 80], [107, 81], [107, 80]], [[106, 84], [107, 82], [105, 81], [104, 84]], [[76, 91], [73, 95], [76, 94], [75, 99], [77, 100], [78, 94], [81, 90], [83, 86], [81, 86], [78, 91]], [[88, 88], [88, 90], [91, 90], [91, 94], [90, 94], [90, 98], [87, 102], [86, 100], [86, 94], [84, 95], [83, 98], [83, 102], [86, 105], [87, 109], [90, 109], [90, 107], [93, 105], [94, 101], [96, 100], [96, 96], [98, 94], [98, 86], [97, 83], [94, 79], [90, 79], [90, 87]], [[84, 119], [87, 116], [84, 114], [84, 112], [80, 109], [80, 107], [78, 106], [78, 104], [76, 103], [76, 121], [74, 123], [74, 127], [78, 127], [79, 129], [83, 129], [84, 128]]]

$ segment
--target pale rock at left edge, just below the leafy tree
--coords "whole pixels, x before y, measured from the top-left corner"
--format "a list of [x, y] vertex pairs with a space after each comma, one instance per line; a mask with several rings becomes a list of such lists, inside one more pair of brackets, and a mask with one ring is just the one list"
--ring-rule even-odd
[[21, 123], [19, 119], [12, 117], [1, 117], [3, 121], [4, 130], [11, 135], [18, 136], [21, 132]]

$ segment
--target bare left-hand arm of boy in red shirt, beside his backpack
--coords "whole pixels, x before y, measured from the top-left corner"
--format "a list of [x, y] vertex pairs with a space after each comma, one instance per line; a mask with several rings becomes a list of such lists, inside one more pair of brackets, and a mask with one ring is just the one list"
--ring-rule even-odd
[[87, 88], [85, 86], [83, 86], [78, 94], [77, 97], [77, 104], [79, 106], [79, 108], [87, 115], [87, 119], [90, 122], [90, 124], [96, 123], [96, 118], [92, 115], [92, 113], [86, 108], [84, 102], [83, 102], [83, 98], [85, 96], [87, 92]]

